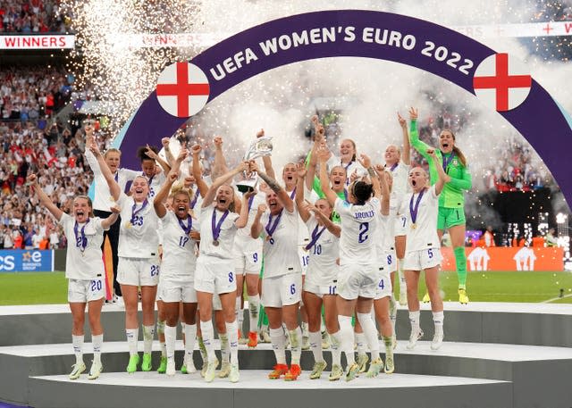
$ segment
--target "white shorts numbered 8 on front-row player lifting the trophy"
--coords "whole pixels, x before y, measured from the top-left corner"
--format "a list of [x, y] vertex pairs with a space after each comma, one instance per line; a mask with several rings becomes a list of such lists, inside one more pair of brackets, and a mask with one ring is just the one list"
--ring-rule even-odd
[[212, 294], [229, 293], [236, 290], [236, 276], [231, 259], [201, 255], [197, 258], [195, 290]]

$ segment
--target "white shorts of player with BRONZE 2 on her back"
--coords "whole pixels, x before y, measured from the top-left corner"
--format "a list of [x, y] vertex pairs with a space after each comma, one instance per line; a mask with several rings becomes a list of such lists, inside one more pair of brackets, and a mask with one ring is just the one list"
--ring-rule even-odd
[[377, 291], [378, 271], [374, 265], [341, 265], [338, 295], [346, 300], [366, 297], [373, 299]]

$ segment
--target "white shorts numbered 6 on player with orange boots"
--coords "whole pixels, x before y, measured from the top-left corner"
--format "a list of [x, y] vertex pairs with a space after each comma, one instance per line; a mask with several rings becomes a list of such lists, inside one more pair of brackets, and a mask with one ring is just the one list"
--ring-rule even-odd
[[265, 307], [282, 307], [297, 304], [301, 300], [302, 275], [287, 275], [262, 279], [262, 298]]

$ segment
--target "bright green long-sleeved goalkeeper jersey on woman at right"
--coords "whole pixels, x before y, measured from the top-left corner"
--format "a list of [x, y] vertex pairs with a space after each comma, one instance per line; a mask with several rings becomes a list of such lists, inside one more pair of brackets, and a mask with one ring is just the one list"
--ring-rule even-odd
[[[433, 158], [427, 154], [427, 149], [433, 149], [433, 147], [419, 140], [416, 121], [411, 121], [409, 141], [411, 146], [423, 155], [429, 163], [429, 178], [431, 180], [431, 184], [435, 184], [435, 181], [438, 179], [437, 168], [435, 167]], [[435, 154], [439, 158], [439, 161], [446, 165], [444, 170], [450, 176], [450, 181], [445, 183], [442, 193], [439, 196], [439, 206], [445, 208], [463, 207], [465, 205], [463, 190], [470, 190], [473, 185], [471, 173], [468, 170], [468, 167], [465, 167], [463, 163], [461, 163], [460, 159], [454, 152], [443, 155], [441, 150], [435, 149]]]

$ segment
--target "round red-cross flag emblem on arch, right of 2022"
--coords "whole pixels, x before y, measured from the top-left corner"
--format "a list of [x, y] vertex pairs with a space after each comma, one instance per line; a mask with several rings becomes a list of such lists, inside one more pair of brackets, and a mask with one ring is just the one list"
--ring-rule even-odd
[[525, 102], [532, 77], [524, 62], [509, 54], [493, 54], [476, 67], [473, 87], [484, 104], [506, 112]]

